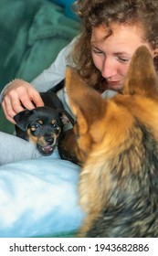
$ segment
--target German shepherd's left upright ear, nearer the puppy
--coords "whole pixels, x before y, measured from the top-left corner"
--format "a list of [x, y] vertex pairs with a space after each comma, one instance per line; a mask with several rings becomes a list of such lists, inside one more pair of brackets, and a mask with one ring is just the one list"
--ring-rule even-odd
[[90, 124], [100, 119], [104, 112], [105, 104], [100, 93], [90, 88], [71, 68], [66, 71], [66, 88], [72, 112], [79, 123], [79, 133], [87, 133]]

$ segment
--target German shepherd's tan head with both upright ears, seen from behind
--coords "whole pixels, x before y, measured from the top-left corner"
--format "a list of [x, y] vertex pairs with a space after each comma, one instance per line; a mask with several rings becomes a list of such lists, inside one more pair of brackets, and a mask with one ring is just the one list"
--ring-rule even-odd
[[[66, 88], [71, 109], [77, 118], [74, 126], [78, 136], [76, 152], [82, 162], [87, 160], [90, 152], [96, 154], [99, 144], [102, 146], [100, 152], [109, 146], [107, 155], [110, 155], [112, 146], [118, 141], [123, 143], [128, 136], [134, 115], [138, 112], [141, 118], [144, 116], [144, 120], [148, 120], [151, 101], [156, 106], [158, 100], [157, 74], [153, 58], [145, 47], [138, 48], [132, 58], [122, 94], [103, 100], [99, 92], [87, 86], [70, 68], [67, 69]], [[139, 102], [142, 112], [139, 112]]]

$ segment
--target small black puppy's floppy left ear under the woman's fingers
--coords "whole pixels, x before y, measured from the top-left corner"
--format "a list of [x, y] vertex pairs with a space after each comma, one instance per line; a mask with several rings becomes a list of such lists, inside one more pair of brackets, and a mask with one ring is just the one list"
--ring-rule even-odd
[[32, 113], [33, 113], [33, 110], [31, 111], [25, 110], [25, 111], [16, 113], [16, 115], [14, 116], [16, 125], [24, 132], [26, 132], [26, 129], [29, 124], [28, 119]]

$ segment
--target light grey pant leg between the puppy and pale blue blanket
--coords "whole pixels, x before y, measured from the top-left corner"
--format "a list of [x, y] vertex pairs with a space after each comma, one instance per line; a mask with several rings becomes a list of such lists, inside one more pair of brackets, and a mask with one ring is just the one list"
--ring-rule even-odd
[[41, 156], [36, 145], [30, 144], [16, 135], [0, 132], [0, 165], [37, 159]]

